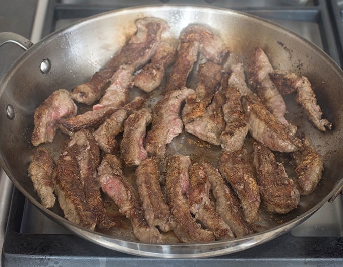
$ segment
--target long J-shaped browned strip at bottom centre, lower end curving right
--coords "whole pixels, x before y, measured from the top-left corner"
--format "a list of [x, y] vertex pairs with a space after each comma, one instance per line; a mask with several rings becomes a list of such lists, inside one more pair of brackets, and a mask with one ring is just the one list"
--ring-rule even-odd
[[167, 159], [165, 186], [172, 218], [170, 226], [182, 242], [210, 242], [215, 237], [211, 231], [204, 230], [195, 222], [190, 213], [187, 199], [189, 188], [188, 156], [174, 155]]

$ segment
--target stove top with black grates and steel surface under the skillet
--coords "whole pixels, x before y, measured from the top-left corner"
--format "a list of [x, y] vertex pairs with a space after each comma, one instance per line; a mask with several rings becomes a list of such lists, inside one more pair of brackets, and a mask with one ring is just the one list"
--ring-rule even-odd
[[[288, 28], [313, 42], [338, 64], [343, 63], [343, 3], [331, 1], [113, 1], [63, 0], [37, 1], [31, 40], [58, 30], [74, 21], [101, 12], [137, 5], [198, 4], [244, 11]], [[1, 6], [1, 2], [0, 2]], [[297, 265], [343, 264], [343, 199], [326, 203], [304, 223], [291, 232], [262, 245], [213, 258], [158, 259], [144, 258], [112, 251], [81, 239], [45, 217], [17, 190], [2, 173], [0, 187], [6, 187], [9, 209], [2, 251], [3, 266], [104, 266], [104, 265], [166, 265], [208, 264], [235, 266], [274, 266], [281, 263]], [[5, 181], [5, 182], [4, 182]], [[3, 185], [5, 184], [5, 185]], [[5, 198], [5, 193], [0, 194]], [[10, 207], [9, 206], [10, 203]], [[3, 209], [4, 207], [4, 209]]]

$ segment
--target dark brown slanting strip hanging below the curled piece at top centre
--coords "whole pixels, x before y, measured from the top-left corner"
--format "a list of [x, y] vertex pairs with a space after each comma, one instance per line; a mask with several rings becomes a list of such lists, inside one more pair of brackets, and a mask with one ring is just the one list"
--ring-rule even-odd
[[169, 74], [165, 91], [180, 90], [186, 86], [189, 73], [192, 71], [194, 62], [198, 59], [199, 44], [194, 42], [181, 43], [173, 64], [173, 70]]

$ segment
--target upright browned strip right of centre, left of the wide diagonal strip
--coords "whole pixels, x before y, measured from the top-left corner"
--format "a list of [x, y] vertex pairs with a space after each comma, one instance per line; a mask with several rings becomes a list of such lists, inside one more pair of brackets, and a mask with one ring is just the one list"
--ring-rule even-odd
[[238, 89], [229, 85], [222, 90], [226, 96], [226, 102], [222, 105], [226, 126], [220, 134], [220, 143], [224, 151], [234, 152], [243, 146], [249, 124], [244, 118], [241, 93]]

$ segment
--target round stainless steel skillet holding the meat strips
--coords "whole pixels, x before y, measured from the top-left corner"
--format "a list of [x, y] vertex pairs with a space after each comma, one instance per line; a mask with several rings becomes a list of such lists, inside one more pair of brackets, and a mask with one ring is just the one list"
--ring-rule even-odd
[[[256, 47], [269, 56], [275, 69], [305, 75], [311, 81], [323, 108], [324, 116], [334, 129], [321, 133], [288, 101], [289, 118], [305, 131], [312, 144], [324, 157], [323, 178], [317, 189], [302, 197], [298, 209], [286, 215], [267, 217], [262, 214], [267, 230], [228, 241], [167, 245], [146, 244], [121, 234], [114, 237], [89, 231], [63, 218], [59, 207], [45, 209], [39, 202], [27, 177], [33, 111], [52, 91], [85, 82], [124, 45], [135, 32], [138, 18], [160, 17], [170, 25], [170, 35], [177, 37], [191, 23], [207, 25], [227, 44], [230, 51], [247, 64]], [[0, 36], [1, 37], [1, 36]], [[11, 37], [16, 39], [17, 37]], [[19, 40], [29, 47], [30, 43]], [[0, 41], [0, 44], [2, 42]], [[52, 33], [30, 47], [11, 67], [0, 83], [0, 163], [14, 185], [44, 214], [71, 232], [99, 245], [131, 254], [154, 257], [209, 257], [244, 250], [273, 239], [300, 224], [328, 199], [341, 190], [343, 180], [342, 104], [343, 72], [321, 49], [294, 33], [252, 15], [198, 6], [146, 6], [116, 10], [77, 22]], [[299, 115], [300, 114], [300, 115]], [[56, 136], [50, 150], [58, 156], [63, 135]], [[49, 145], [48, 145], [49, 146]], [[187, 147], [184, 153], [187, 154]]]

